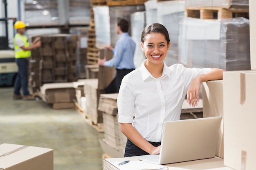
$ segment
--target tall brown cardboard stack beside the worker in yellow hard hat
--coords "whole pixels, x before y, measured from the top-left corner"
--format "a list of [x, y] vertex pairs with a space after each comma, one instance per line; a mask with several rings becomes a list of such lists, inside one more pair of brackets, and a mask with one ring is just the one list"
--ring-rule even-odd
[[74, 82], [78, 37], [71, 34], [52, 34], [40, 37], [42, 45], [31, 51], [29, 60], [29, 87], [31, 93], [45, 83]]

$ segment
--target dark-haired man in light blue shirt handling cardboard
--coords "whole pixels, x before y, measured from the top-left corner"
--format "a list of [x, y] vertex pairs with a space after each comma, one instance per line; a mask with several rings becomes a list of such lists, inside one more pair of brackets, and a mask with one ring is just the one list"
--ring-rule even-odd
[[133, 56], [135, 53], [135, 42], [128, 34], [129, 22], [123, 18], [117, 19], [117, 33], [120, 35], [119, 40], [115, 45], [115, 49], [112, 46], [106, 46], [114, 54], [111, 60], [106, 61], [104, 59], [98, 59], [100, 66], [115, 67], [117, 75], [105, 89], [106, 93], [118, 93], [121, 81], [123, 77], [133, 71], [135, 66], [133, 64]]

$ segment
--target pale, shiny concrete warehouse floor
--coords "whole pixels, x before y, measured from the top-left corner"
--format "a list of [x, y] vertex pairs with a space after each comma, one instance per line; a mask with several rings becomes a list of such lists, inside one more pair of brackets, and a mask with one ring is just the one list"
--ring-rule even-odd
[[102, 170], [104, 133], [75, 109], [54, 110], [42, 100], [13, 100], [12, 87], [0, 87], [0, 144], [54, 149], [54, 170]]

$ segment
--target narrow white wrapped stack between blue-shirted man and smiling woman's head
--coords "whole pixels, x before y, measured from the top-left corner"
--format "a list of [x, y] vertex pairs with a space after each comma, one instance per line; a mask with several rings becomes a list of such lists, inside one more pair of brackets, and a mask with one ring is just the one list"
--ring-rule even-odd
[[131, 14], [131, 36], [136, 43], [133, 63], [138, 68], [143, 60], [146, 59], [144, 52], [141, 50], [141, 33], [146, 26], [145, 11], [135, 12]]

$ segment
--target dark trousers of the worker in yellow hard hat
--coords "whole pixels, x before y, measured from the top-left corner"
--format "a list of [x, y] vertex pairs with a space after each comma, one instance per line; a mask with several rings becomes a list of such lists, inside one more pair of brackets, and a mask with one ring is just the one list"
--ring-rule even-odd
[[18, 74], [14, 82], [14, 94], [20, 95], [20, 88], [22, 88], [23, 95], [29, 95], [27, 90], [28, 86], [28, 75], [27, 75], [27, 58], [16, 58], [18, 65]]

